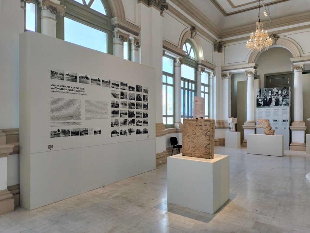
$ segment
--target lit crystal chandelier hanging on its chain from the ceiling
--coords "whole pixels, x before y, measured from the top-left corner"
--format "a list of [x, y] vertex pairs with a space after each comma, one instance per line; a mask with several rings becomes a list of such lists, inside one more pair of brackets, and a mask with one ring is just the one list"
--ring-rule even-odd
[[252, 32], [250, 40], [246, 42], [246, 48], [251, 51], [267, 50], [272, 45], [272, 40], [267, 31], [263, 30], [263, 22], [259, 18], [260, 0], [258, 1], [258, 22], [256, 22], [255, 34]]

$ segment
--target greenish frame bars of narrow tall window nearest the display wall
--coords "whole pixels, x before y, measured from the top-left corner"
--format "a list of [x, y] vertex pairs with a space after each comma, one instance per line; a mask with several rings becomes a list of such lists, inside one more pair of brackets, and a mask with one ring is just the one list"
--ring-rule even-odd
[[[166, 85], [166, 114], [164, 115], [164, 113], [162, 113], [162, 118], [166, 117], [166, 124], [165, 127], [168, 128], [174, 128], [174, 123], [175, 123], [175, 58], [174, 57], [170, 57], [168, 55], [165, 55], [163, 57], [168, 57], [170, 59], [172, 59], [172, 74], [169, 72], [165, 72], [162, 71], [162, 75], [166, 76], [166, 80], [167, 80], [167, 76], [172, 77], [173, 80], [173, 84], [168, 84], [167, 82], [162, 82], [162, 86]], [[173, 108], [172, 108], [172, 115], [168, 115], [168, 95], [167, 95], [167, 86], [172, 86], [173, 88], [173, 100], [172, 100], [172, 104], [173, 104]], [[167, 124], [168, 123], [168, 117], [172, 117], [172, 124]]]

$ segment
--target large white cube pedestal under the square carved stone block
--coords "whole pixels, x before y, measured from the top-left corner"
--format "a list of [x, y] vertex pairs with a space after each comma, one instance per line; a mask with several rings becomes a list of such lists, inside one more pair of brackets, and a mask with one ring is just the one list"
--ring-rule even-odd
[[213, 214], [229, 200], [229, 157], [169, 156], [167, 186], [168, 203]]

